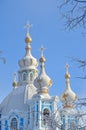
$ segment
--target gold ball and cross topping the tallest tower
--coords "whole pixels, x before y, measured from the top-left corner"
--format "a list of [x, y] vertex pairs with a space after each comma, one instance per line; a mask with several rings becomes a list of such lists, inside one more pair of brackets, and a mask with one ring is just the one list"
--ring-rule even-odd
[[25, 42], [26, 43], [31, 43], [32, 42], [32, 38], [30, 37], [30, 28], [32, 27], [32, 24], [27, 23], [24, 28], [26, 28], [26, 38], [25, 38]]

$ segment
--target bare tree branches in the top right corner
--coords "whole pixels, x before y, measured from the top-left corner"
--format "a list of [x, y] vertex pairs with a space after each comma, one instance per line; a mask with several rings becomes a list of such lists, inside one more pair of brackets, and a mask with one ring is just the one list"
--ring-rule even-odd
[[86, 0], [61, 0], [58, 8], [66, 20], [66, 28], [86, 28]]

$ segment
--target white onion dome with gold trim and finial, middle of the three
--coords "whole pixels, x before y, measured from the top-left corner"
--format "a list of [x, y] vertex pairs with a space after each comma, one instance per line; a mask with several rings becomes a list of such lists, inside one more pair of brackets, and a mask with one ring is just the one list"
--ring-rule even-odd
[[45, 61], [46, 61], [46, 59], [42, 53], [42, 56], [40, 58], [41, 71], [40, 71], [39, 76], [34, 81], [34, 84], [35, 84], [36, 88], [38, 88], [39, 93], [48, 93], [48, 89], [52, 85], [52, 80], [46, 74], [46, 71], [45, 71], [45, 64], [44, 64]]

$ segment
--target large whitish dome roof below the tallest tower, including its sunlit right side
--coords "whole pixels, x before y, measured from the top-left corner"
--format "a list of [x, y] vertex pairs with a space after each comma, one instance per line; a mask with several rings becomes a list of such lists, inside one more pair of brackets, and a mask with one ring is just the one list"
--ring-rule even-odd
[[5, 97], [0, 105], [0, 111], [3, 115], [8, 114], [12, 110], [26, 111], [27, 99], [31, 99], [36, 93], [34, 86], [20, 86]]

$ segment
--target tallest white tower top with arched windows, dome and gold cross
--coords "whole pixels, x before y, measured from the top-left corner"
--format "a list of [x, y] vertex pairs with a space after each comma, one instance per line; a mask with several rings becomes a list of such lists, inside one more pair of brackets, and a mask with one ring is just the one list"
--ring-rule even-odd
[[18, 84], [19, 85], [26, 85], [26, 84], [33, 84], [34, 79], [37, 77], [37, 66], [38, 66], [38, 61], [36, 58], [34, 58], [31, 54], [31, 42], [32, 38], [30, 37], [29, 29], [31, 25], [27, 24], [26, 29], [26, 54], [23, 57], [23, 59], [19, 60], [19, 66], [20, 70], [18, 71]]

